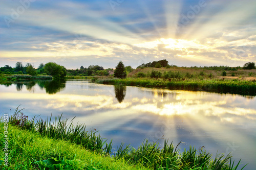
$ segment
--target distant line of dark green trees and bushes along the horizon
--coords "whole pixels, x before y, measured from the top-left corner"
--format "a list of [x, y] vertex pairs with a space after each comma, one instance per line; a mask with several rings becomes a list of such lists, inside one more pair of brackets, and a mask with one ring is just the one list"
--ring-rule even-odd
[[[153, 61], [146, 64], [141, 64], [137, 68], [144, 68], [144, 67], [156, 67], [156, 68], [172, 68], [177, 67], [176, 65], [169, 65], [166, 59]], [[255, 69], [254, 62], [245, 63], [243, 67], [229, 67], [229, 66], [204, 66], [204, 67], [179, 67], [179, 68], [193, 68], [193, 69], [208, 69], [208, 70], [238, 70], [238, 69]], [[126, 78], [127, 74], [132, 72], [134, 69], [131, 66], [124, 66], [122, 61], [120, 61], [116, 69], [108, 68], [104, 69], [102, 66], [99, 65], [90, 65], [88, 68], [80, 66], [80, 69], [66, 69], [64, 66], [61, 66], [54, 62], [48, 62], [46, 64], [41, 63], [37, 68], [31, 63], [27, 63], [25, 66], [22, 62], [17, 62], [15, 67], [12, 68], [9, 65], [5, 65], [4, 67], [0, 68], [0, 73], [4, 74], [28, 74], [31, 76], [36, 75], [50, 75], [54, 78], [63, 78], [65, 76], [114, 76], [116, 78]]]

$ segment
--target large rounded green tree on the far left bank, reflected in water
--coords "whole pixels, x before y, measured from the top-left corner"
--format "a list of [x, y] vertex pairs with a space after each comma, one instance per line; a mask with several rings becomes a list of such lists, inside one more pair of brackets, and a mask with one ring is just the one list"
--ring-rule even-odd
[[45, 72], [54, 78], [63, 78], [67, 75], [67, 69], [64, 66], [60, 66], [54, 62], [46, 63]]

